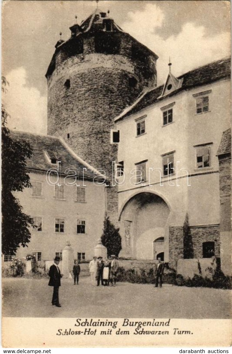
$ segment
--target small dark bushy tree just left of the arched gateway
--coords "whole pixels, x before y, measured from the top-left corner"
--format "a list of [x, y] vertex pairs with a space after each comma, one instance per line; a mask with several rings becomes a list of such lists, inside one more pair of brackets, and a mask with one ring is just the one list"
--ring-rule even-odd
[[107, 248], [107, 255], [115, 255], [118, 257], [122, 249], [122, 239], [119, 228], [116, 229], [114, 224], [110, 222], [109, 216], [105, 218], [104, 229], [102, 234], [102, 244]]

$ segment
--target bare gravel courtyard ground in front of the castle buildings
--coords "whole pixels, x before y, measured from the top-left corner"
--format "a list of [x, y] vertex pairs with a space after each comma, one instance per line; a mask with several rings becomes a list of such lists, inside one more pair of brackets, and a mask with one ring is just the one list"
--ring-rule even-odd
[[62, 279], [61, 308], [52, 306], [48, 279], [3, 278], [4, 317], [101, 317], [228, 319], [230, 290], [118, 282], [93, 287], [88, 277], [79, 285]]

